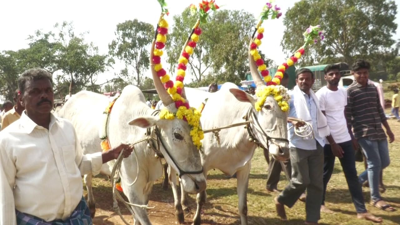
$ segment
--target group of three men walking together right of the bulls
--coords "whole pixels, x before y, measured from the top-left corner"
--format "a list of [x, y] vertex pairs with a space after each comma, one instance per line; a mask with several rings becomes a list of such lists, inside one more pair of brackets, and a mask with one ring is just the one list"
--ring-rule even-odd
[[[368, 82], [369, 69], [368, 62], [356, 60], [352, 65], [355, 81], [344, 89], [338, 86], [339, 66], [328, 65], [324, 69], [327, 85], [316, 93], [311, 89], [315, 80], [313, 72], [306, 68], [296, 70], [296, 86], [290, 91], [288, 115], [310, 123], [312, 135], [300, 137], [290, 129], [290, 162], [273, 161], [269, 165], [268, 191], [280, 192], [276, 183], [282, 168], [290, 179], [274, 199], [276, 212], [282, 219], [286, 219], [284, 205], [292, 207], [298, 199], [306, 202], [305, 224], [318, 224], [320, 212], [333, 213], [325, 207], [325, 195], [336, 157], [342, 165], [358, 218], [382, 222], [382, 218], [366, 210], [362, 195], [362, 184], [366, 181], [370, 187], [370, 204], [384, 211], [395, 210], [379, 191], [382, 170], [390, 163], [387, 136], [392, 143], [394, 134], [386, 121], [378, 90]], [[395, 107], [396, 101], [392, 104]], [[288, 127], [290, 123], [294, 127], [304, 126], [304, 123], [290, 119], [288, 122]], [[357, 176], [355, 151], [359, 145], [367, 167]]]

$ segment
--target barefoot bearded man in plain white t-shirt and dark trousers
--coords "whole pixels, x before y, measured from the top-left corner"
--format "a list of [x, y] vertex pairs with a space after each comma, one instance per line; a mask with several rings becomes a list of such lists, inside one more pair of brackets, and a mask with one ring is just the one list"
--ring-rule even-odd
[[339, 87], [340, 71], [339, 65], [330, 64], [324, 68], [326, 86], [323, 86], [315, 94], [318, 97], [320, 110], [326, 116], [326, 121], [330, 129], [332, 140], [324, 146], [324, 196], [321, 204], [321, 211], [332, 213], [325, 207], [326, 186], [332, 175], [335, 157], [337, 156], [342, 165], [344, 176], [352, 196], [354, 206], [359, 219], [367, 219], [374, 222], [382, 222], [382, 218], [375, 217], [367, 212], [362, 195], [361, 184], [358, 181], [356, 171], [356, 161], [352, 139], [348, 133], [346, 118], [344, 117], [344, 107], [347, 104], [347, 91]]

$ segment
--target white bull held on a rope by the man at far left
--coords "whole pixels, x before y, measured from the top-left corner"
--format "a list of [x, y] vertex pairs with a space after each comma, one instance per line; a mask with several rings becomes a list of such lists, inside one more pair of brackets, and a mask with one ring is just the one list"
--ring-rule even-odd
[[[160, 78], [155, 73], [153, 73], [153, 78], [156, 78], [154, 83], [162, 102], [166, 105], [173, 104], [172, 98], [162, 88]], [[71, 97], [58, 113], [58, 116], [69, 119], [74, 125], [85, 154], [102, 151], [99, 130], [104, 129], [102, 127], [103, 112], [108, 104], [106, 96], [81, 91]], [[139, 88], [126, 86], [121, 96], [115, 101], [108, 118], [107, 134], [110, 145], [134, 143], [146, 137], [146, 128], [158, 127], [161, 140], [158, 144], [168, 164], [175, 171], [179, 171], [178, 167], [186, 172], [202, 171], [200, 153], [193, 144], [190, 136], [191, 128], [188, 123], [176, 118], [173, 120], [159, 119], [158, 116], [152, 116], [153, 112], [154, 110], [146, 105], [146, 100]], [[154, 129], [151, 131], [151, 136], [156, 138]], [[157, 143], [154, 144], [157, 145]], [[154, 181], [162, 175], [162, 165], [160, 159], [154, 156], [154, 150], [147, 147], [146, 142], [135, 145], [134, 151], [137, 159], [134, 159], [135, 156], [132, 154], [122, 161], [121, 186], [130, 203], [146, 205]], [[140, 166], [139, 171], [137, 171], [137, 161]], [[110, 175], [107, 165], [102, 167], [101, 173]], [[136, 183], [130, 185], [136, 176], [138, 176]], [[206, 188], [206, 180], [201, 172], [197, 174], [181, 172], [180, 176], [184, 191], [199, 193]], [[94, 217], [92, 175], [86, 175], [84, 179], [88, 190], [88, 205], [92, 217]], [[110, 199], [110, 201], [112, 200]], [[135, 224], [151, 224], [146, 209], [138, 207], [132, 207], [132, 209], [135, 213]], [[183, 216], [183, 211], [177, 212], [177, 214]]]

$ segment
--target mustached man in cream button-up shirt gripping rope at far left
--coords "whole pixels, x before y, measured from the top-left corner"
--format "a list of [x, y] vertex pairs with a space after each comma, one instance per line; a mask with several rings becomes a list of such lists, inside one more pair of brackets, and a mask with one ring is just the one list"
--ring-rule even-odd
[[72, 124], [50, 112], [52, 75], [40, 68], [18, 79], [21, 118], [0, 132], [0, 224], [91, 225], [82, 175], [100, 172], [103, 163], [124, 157], [121, 144], [103, 153], [82, 154]]

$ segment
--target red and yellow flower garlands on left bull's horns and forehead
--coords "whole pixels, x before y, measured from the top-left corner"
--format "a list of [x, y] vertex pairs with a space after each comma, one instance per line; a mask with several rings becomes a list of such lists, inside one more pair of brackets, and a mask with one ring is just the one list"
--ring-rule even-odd
[[[204, 7], [203, 4], [205, 4]], [[192, 6], [190, 6], [190, 8], [191, 10], [193, 10]], [[200, 18], [196, 22], [196, 25], [192, 29], [192, 32], [182, 49], [182, 54], [178, 60], [178, 72], [175, 83], [170, 80], [170, 76], [166, 74], [166, 71], [162, 68], [162, 65], [160, 63], [160, 56], [162, 56], [163, 53], [162, 48], [164, 48], [165, 46], [166, 34], [168, 33], [168, 23], [166, 22], [166, 20], [164, 20], [164, 13], [162, 13], [160, 16], [155, 36], [156, 40], [152, 44], [152, 49], [150, 53], [150, 62], [152, 62], [151, 70], [157, 92], [158, 88], [161, 88], [164, 91], [164, 88], [166, 88], [168, 94], [170, 95], [168, 97], [172, 99], [172, 103], [168, 105], [165, 104], [165, 102], [163, 101], [166, 108], [161, 110], [160, 119], [172, 120], [176, 117], [178, 119], [183, 119], [187, 121], [190, 127], [192, 127], [192, 130], [190, 131], [190, 136], [192, 137], [194, 145], [196, 145], [198, 149], [201, 148], [201, 140], [204, 138], [204, 133], [200, 127], [201, 113], [195, 108], [191, 108], [189, 106], [189, 102], [186, 100], [186, 95], [184, 92], [183, 80], [185, 76], [186, 64], [188, 63], [190, 55], [193, 54], [193, 49], [196, 47], [196, 42], [198, 42], [199, 35], [201, 34], [201, 30], [198, 26], [200, 22], [206, 21], [206, 18], [208, 17], [207, 11], [210, 8], [212, 10], [216, 10], [218, 6], [214, 3], [214, 1], [203, 1], [202, 3], [200, 3]], [[155, 49], [154, 46], [156, 46]], [[162, 84], [164, 84], [163, 87]]]

